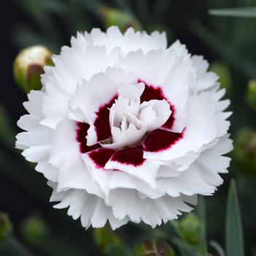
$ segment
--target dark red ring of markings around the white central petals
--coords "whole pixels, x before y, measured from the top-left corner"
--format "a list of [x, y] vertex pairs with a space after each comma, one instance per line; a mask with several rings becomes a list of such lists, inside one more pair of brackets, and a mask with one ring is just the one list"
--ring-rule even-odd
[[[138, 80], [138, 83], [143, 80]], [[97, 133], [97, 140], [107, 140], [111, 137], [110, 123], [109, 123], [109, 109], [117, 99], [116, 94], [108, 103], [102, 105], [96, 112], [97, 118], [94, 121], [94, 129]], [[175, 107], [170, 104], [168, 99], [163, 94], [161, 87], [152, 86], [145, 83], [145, 90], [140, 97], [140, 102], [149, 101], [151, 99], [166, 99], [170, 105], [172, 114], [166, 123], [162, 126], [163, 129], [156, 129], [149, 132], [143, 140], [142, 145], [131, 148], [123, 148], [115, 151], [113, 149], [102, 148], [99, 143], [94, 146], [86, 145], [86, 135], [89, 129], [89, 124], [77, 122], [77, 135], [76, 139], [80, 145], [80, 152], [82, 154], [88, 153], [91, 160], [97, 168], [104, 169], [106, 163], [111, 161], [120, 162], [124, 165], [132, 165], [138, 167], [143, 165], [146, 159], [143, 159], [143, 151], [158, 152], [172, 147], [178, 140], [184, 136], [184, 132], [175, 133], [167, 129], [173, 127], [175, 121]]]

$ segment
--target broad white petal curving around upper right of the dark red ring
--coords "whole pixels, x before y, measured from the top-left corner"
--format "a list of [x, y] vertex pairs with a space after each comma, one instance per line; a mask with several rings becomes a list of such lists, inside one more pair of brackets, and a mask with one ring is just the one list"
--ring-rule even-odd
[[[162, 93], [175, 108], [175, 122], [171, 130], [181, 132], [187, 121], [189, 86], [193, 83], [192, 63], [176, 56], [175, 50], [151, 50], [131, 52], [120, 58], [116, 67], [133, 72], [140, 80]], [[174, 113], [173, 113], [174, 114]]]

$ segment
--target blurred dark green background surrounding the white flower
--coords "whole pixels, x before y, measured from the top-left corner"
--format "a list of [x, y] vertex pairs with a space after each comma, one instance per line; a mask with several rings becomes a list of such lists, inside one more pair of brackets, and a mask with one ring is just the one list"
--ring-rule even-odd
[[[209, 14], [215, 9], [256, 7], [255, 0], [9, 0], [1, 4], [1, 256], [256, 255], [256, 12]], [[79, 221], [67, 217], [66, 210], [52, 208], [45, 178], [14, 148], [16, 122], [26, 113], [22, 103], [28, 91], [15, 83], [13, 75], [20, 50], [44, 45], [57, 54], [76, 31], [112, 25], [122, 31], [129, 26], [166, 31], [169, 45], [180, 39], [190, 53], [208, 59], [232, 102], [230, 133], [235, 149], [230, 154], [230, 173], [222, 176], [224, 184], [213, 197], [200, 199], [195, 213], [155, 230], [132, 224], [115, 232], [108, 227], [84, 230]], [[230, 240], [236, 232], [237, 243]], [[243, 244], [241, 240], [244, 254], [236, 254], [238, 250], [232, 254], [230, 242], [236, 248]]]

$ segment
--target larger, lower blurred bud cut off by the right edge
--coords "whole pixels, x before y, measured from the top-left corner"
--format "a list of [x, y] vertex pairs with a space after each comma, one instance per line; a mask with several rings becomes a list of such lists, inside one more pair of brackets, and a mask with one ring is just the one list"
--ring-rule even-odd
[[241, 172], [256, 174], [256, 132], [252, 129], [241, 129], [234, 140], [234, 158]]

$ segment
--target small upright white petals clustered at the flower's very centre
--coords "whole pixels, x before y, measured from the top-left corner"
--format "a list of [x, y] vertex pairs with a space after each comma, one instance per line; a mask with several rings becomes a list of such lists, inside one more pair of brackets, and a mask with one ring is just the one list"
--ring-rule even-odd
[[103, 147], [120, 149], [135, 146], [146, 132], [165, 124], [171, 114], [170, 105], [165, 99], [140, 102], [144, 90], [144, 83], [118, 88], [118, 98], [109, 110], [111, 138], [102, 143]]

